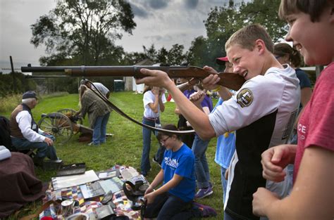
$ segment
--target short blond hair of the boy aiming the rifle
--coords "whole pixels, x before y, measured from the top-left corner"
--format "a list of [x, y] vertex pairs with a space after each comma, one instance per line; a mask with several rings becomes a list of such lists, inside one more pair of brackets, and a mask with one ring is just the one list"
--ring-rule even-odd
[[273, 53], [273, 41], [266, 29], [259, 24], [248, 25], [237, 30], [237, 32], [232, 34], [228, 41], [226, 41], [225, 51], [228, 51], [228, 48], [235, 44], [240, 45], [242, 48], [249, 49], [249, 51], [253, 51], [255, 41], [258, 39], [263, 40], [267, 50]]

